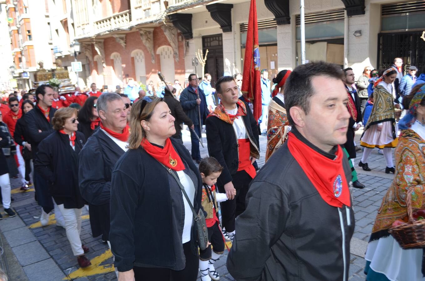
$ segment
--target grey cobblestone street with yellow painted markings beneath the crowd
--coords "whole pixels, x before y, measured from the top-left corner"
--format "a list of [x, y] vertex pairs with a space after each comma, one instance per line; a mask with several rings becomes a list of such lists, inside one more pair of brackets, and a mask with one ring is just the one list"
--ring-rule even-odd
[[[356, 135], [357, 141], [361, 132], [358, 134]], [[205, 135], [203, 136], [205, 148], [201, 147], [201, 156], [205, 157], [208, 154], [207, 142]], [[184, 145], [190, 151], [190, 137], [187, 136], [186, 132], [184, 132], [183, 139]], [[266, 137], [261, 136], [262, 157], [258, 160], [259, 167], [264, 165], [265, 146]], [[357, 153], [358, 157], [355, 160], [355, 164], [359, 180], [366, 187], [364, 189], [351, 188], [356, 220], [355, 232], [351, 241], [351, 265], [349, 270], [349, 280], [352, 281], [365, 279], [363, 274], [365, 264], [363, 256], [367, 247], [368, 237], [382, 197], [392, 181], [392, 174], [388, 175], [384, 172], [385, 159], [382, 155], [374, 151], [368, 161], [372, 171], [365, 172], [357, 166], [361, 159], [361, 154], [361, 151]], [[12, 180], [12, 197], [14, 198], [12, 207], [17, 211], [19, 217], [8, 218], [2, 212], [5, 219], [0, 221], [0, 228], [30, 280], [116, 280], [111, 251], [101, 239], [91, 236], [88, 211], [85, 208], [83, 209], [81, 239], [82, 243], [90, 248], [87, 256], [91, 259], [92, 266], [83, 270], [79, 269], [77, 259], [72, 255], [65, 229], [55, 224], [54, 214], [51, 215], [49, 225], [41, 227], [39, 223], [41, 209], [34, 200], [34, 189], [21, 192], [19, 187], [18, 180]], [[16, 223], [14, 219], [16, 219]], [[227, 255], [227, 253], [225, 254]], [[222, 276], [221, 280], [234, 280], [227, 272], [225, 264], [226, 256], [215, 264], [215, 268]], [[56, 271], [52, 270], [52, 268], [55, 268]], [[52, 272], [57, 272], [57, 277], [53, 277]]]

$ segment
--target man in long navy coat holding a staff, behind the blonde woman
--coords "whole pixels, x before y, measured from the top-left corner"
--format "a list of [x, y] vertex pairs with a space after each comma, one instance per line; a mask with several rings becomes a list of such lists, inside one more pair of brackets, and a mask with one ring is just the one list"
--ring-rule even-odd
[[[205, 119], [210, 113], [207, 108], [207, 99], [205, 98], [204, 92], [199, 89], [197, 84], [197, 78], [195, 74], [189, 75], [189, 86], [183, 90], [180, 94], [180, 103], [181, 107], [184, 110], [184, 113], [192, 120], [195, 125], [195, 130], [190, 131], [190, 138], [192, 140], [192, 159], [196, 161], [196, 163], [201, 162], [201, 153], [199, 152], [199, 141], [194, 136], [196, 133], [199, 138], [201, 138], [201, 127], [204, 125]], [[199, 98], [198, 98], [199, 94]], [[199, 109], [198, 109], [199, 107]], [[199, 117], [199, 113], [201, 113], [201, 117]], [[199, 124], [199, 120], [201, 120], [201, 124]]]

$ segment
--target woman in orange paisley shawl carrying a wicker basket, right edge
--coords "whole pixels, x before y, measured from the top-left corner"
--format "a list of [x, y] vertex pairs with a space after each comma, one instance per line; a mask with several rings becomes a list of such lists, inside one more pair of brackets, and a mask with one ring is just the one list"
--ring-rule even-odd
[[413, 211], [425, 208], [424, 97], [425, 84], [422, 84], [416, 86], [403, 100], [409, 111], [399, 122], [402, 133], [395, 150], [396, 174], [378, 210], [366, 250], [367, 281], [425, 280], [423, 250], [403, 250], [388, 234], [388, 228], [394, 221], [407, 216], [406, 192], [409, 188], [414, 187]]

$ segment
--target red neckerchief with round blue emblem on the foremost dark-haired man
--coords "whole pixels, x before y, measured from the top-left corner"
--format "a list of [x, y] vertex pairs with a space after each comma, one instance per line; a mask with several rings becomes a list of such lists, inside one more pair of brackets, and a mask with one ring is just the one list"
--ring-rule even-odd
[[297, 139], [294, 133], [290, 132], [288, 136], [289, 151], [317, 189], [320, 197], [334, 207], [351, 206], [341, 147], [338, 145], [336, 158], [332, 160]]

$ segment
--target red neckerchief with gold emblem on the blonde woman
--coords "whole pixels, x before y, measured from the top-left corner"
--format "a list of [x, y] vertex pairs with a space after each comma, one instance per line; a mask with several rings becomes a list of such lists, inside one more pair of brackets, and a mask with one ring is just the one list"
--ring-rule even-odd
[[174, 149], [169, 138], [165, 141], [164, 148], [152, 145], [147, 139], [144, 139], [140, 145], [142, 145], [143, 149], [150, 156], [165, 167], [175, 171], [182, 171], [185, 169], [183, 161], [181, 161], [180, 156]]

